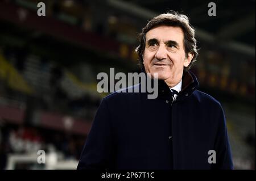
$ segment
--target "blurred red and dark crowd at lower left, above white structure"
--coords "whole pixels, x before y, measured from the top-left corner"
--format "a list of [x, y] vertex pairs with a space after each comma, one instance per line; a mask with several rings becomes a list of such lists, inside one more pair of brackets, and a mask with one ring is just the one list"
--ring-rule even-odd
[[[10, 155], [37, 155], [38, 150], [63, 155], [63, 160], [78, 160], [85, 136], [40, 129], [31, 126], [5, 125], [0, 127], [0, 169], [7, 169]], [[17, 169], [31, 169], [20, 167]]]

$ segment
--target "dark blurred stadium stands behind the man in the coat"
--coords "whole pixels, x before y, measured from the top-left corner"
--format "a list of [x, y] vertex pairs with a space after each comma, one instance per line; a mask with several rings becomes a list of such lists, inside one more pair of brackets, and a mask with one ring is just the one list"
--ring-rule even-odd
[[[97, 74], [139, 72], [138, 33], [176, 10], [196, 28], [192, 71], [224, 106], [234, 166], [255, 169], [255, 0], [213, 1], [217, 16], [208, 16], [209, 2], [1, 0], [0, 168], [76, 169], [106, 95]], [[48, 164], [36, 162], [40, 149]]]

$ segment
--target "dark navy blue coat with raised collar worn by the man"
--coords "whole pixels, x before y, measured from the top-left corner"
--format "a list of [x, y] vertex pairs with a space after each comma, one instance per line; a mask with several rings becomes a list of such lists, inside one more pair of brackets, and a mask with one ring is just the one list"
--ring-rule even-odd
[[[146, 92], [106, 96], [77, 169], [233, 169], [221, 104], [197, 87], [187, 71], [175, 101], [164, 81], [156, 99]], [[208, 162], [209, 150], [216, 163]]]

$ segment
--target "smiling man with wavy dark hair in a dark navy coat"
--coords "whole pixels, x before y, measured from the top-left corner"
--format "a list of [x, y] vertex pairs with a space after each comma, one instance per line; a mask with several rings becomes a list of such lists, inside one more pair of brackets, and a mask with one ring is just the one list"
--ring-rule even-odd
[[77, 169], [233, 169], [221, 104], [197, 90], [189, 70], [198, 53], [188, 17], [173, 11], [156, 16], [139, 40], [143, 71], [158, 73], [158, 97], [106, 96]]

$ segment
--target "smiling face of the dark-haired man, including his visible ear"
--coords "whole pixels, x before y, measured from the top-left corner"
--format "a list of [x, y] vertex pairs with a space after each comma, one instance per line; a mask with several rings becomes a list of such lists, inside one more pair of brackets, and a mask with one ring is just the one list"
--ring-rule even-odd
[[180, 27], [159, 26], [146, 33], [143, 64], [147, 73], [158, 73], [169, 87], [180, 82], [184, 66], [193, 58], [185, 55], [184, 33]]

